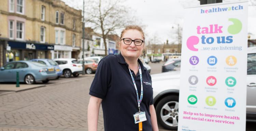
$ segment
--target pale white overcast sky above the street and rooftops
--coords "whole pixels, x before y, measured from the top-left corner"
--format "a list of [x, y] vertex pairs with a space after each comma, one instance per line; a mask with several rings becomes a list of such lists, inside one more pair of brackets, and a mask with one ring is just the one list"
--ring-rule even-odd
[[[62, 1], [71, 7], [83, 4], [82, 0]], [[223, 3], [236, 1], [242, 0], [223, 0]], [[183, 26], [184, 7], [200, 5], [200, 2], [198, 0], [126, 0], [123, 4], [130, 5], [129, 10], [133, 10], [140, 23], [145, 25], [146, 39], [156, 37], [159, 39], [158, 44], [162, 44], [167, 39], [169, 43], [177, 43], [176, 34], [178, 24], [180, 29]], [[256, 6], [248, 7], [248, 32], [251, 39], [256, 39]]]

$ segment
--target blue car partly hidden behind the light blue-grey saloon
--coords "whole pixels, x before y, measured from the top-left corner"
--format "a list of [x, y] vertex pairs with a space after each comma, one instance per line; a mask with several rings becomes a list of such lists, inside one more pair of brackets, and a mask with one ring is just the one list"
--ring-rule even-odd
[[57, 79], [62, 75], [62, 70], [59, 68], [59, 64], [51, 59], [32, 59], [31, 61], [45, 64], [48, 67], [53, 67], [58, 75]]

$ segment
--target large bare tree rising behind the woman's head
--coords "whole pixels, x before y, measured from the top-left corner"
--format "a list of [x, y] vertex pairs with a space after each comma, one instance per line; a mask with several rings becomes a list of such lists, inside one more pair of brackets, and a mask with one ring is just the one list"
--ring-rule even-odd
[[105, 55], [107, 55], [106, 38], [108, 34], [134, 24], [134, 17], [130, 16], [132, 10], [127, 5], [122, 5], [120, 0], [90, 0], [86, 4], [85, 21], [102, 35]]

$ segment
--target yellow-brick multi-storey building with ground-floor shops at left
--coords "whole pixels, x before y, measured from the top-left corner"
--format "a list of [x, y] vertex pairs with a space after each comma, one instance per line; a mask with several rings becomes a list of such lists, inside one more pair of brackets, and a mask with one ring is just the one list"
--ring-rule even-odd
[[0, 66], [80, 53], [81, 10], [60, 0], [2, 0], [0, 18]]

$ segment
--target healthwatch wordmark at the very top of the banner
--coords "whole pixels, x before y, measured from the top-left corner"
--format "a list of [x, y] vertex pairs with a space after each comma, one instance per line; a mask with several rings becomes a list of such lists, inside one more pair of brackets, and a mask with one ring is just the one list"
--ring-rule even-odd
[[211, 8], [211, 9], [208, 9], [208, 10], [201, 9], [201, 14], [214, 13], [214, 12], [234, 11], [234, 10], [243, 10], [243, 6], [238, 5], [238, 6], [232, 6], [232, 7], [226, 7], [226, 8], [217, 7], [217, 8]]

